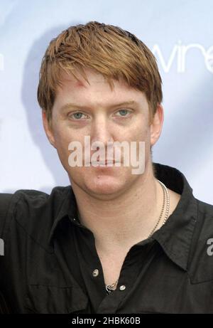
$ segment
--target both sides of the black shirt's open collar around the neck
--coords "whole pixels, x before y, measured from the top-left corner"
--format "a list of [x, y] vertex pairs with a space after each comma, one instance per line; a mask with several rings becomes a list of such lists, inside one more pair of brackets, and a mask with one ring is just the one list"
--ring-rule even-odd
[[[153, 169], [155, 178], [162, 181], [168, 189], [181, 194], [181, 197], [168, 221], [153, 233], [151, 239], [157, 240], [168, 257], [182, 269], [187, 270], [192, 235], [197, 221], [197, 201], [192, 194], [190, 184], [178, 169], [158, 163], [153, 163]], [[58, 223], [67, 217], [72, 223], [81, 226], [77, 219], [77, 203], [71, 186], [65, 188], [60, 210], [50, 230], [48, 243], [51, 242]], [[141, 243], [143, 244], [143, 241]]]

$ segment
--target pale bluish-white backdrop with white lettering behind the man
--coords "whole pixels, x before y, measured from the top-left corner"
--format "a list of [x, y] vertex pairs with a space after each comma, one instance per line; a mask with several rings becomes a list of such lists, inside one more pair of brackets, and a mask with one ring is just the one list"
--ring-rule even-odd
[[50, 39], [99, 21], [136, 34], [163, 79], [165, 121], [153, 161], [175, 166], [213, 204], [212, 0], [0, 0], [0, 192], [70, 181], [43, 131], [38, 70]]

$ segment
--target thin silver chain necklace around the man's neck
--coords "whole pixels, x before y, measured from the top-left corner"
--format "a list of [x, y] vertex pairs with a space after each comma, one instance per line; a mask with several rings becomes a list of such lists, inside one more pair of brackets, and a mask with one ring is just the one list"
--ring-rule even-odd
[[[168, 213], [169, 213], [169, 210], [170, 210], [170, 194], [168, 193], [168, 189], [166, 188], [165, 184], [163, 184], [163, 182], [161, 182], [158, 179], [157, 179], [157, 181], [160, 183], [160, 186], [162, 186], [162, 189], [163, 189], [163, 207], [162, 207], [162, 210], [160, 212], [160, 216], [158, 218], [158, 221], [156, 222], [156, 224], [155, 224], [153, 230], [151, 231], [151, 233], [149, 233], [148, 238], [150, 238], [153, 235], [156, 228], [158, 227], [158, 224], [160, 223], [160, 219], [163, 216], [163, 212], [164, 212], [164, 209], [165, 209], [165, 196], [166, 196], [166, 209], [165, 209], [165, 218], [163, 220], [162, 226], [165, 224], [165, 221], [168, 219]], [[106, 288], [108, 294], [114, 290], [113, 287], [116, 285], [116, 283], [118, 281], [119, 280], [116, 280], [116, 282], [114, 282], [111, 285], [106, 285], [105, 284], [105, 288]]]

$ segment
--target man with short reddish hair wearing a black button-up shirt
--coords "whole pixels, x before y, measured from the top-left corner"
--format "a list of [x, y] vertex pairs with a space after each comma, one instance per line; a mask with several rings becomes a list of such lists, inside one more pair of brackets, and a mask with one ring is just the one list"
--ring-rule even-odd
[[[116, 26], [67, 28], [43, 58], [38, 102], [71, 186], [0, 197], [11, 312], [213, 312], [213, 206], [195, 199], [178, 169], [151, 159], [163, 127], [151, 51]], [[124, 149], [120, 162], [114, 153], [95, 160], [94, 148], [86, 158], [85, 137], [97, 149], [136, 142], [143, 172], [124, 165]], [[72, 142], [82, 165], [73, 165]]]

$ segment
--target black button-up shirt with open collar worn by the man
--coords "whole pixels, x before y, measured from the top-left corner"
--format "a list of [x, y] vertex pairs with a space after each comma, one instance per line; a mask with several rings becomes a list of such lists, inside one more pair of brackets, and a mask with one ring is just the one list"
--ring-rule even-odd
[[195, 199], [178, 169], [153, 165], [155, 177], [181, 198], [164, 226], [131, 247], [110, 294], [71, 186], [50, 195], [18, 190], [7, 202], [1, 194], [0, 290], [8, 311], [213, 313], [213, 206]]

